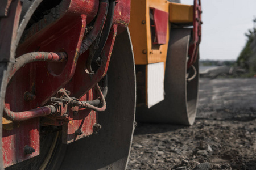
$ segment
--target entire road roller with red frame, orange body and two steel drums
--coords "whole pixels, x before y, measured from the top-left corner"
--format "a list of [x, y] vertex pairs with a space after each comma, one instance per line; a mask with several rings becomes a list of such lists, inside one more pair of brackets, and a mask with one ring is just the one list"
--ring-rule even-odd
[[200, 39], [200, 1], [1, 0], [0, 169], [126, 169], [136, 109], [193, 124]]

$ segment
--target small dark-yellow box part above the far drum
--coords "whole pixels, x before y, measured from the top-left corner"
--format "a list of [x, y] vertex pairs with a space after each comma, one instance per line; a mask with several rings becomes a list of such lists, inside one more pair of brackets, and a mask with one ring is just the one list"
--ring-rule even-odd
[[192, 23], [193, 5], [170, 3], [169, 19], [172, 23]]

